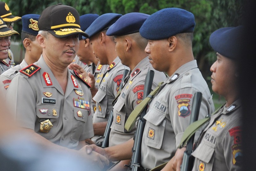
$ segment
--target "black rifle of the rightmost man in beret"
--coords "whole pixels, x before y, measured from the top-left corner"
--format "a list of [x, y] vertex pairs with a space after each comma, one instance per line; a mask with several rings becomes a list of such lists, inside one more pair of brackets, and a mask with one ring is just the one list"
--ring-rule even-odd
[[[200, 92], [195, 93], [193, 97], [193, 108], [191, 111], [190, 124], [198, 120], [201, 101], [202, 101], [202, 93]], [[186, 151], [184, 152], [184, 155], [183, 155], [182, 165], [180, 166], [180, 171], [188, 171], [188, 170], [192, 170], [193, 168], [195, 157], [193, 157], [191, 153], [193, 151], [194, 137], [195, 137], [195, 134], [192, 135], [192, 137], [188, 140]]]

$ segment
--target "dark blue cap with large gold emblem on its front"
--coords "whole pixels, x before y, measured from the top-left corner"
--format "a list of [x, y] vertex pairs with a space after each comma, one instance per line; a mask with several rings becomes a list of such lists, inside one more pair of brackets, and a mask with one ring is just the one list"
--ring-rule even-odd
[[38, 34], [38, 14], [27, 14], [21, 17], [22, 31], [27, 34], [36, 36]]

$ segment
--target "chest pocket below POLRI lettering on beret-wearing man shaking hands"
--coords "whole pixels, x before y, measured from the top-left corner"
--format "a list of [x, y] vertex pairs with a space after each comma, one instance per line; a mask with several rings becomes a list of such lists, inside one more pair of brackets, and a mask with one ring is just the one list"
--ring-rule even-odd
[[144, 118], [147, 120], [144, 129], [145, 144], [149, 147], [160, 149], [163, 143], [163, 135], [166, 125], [166, 113], [152, 111], [147, 113]]

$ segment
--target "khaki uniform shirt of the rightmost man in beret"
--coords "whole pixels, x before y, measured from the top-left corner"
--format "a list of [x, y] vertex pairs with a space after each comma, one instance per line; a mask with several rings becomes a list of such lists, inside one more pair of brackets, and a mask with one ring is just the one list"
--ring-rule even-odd
[[[242, 107], [239, 100], [211, 116], [192, 153], [193, 170], [242, 170]], [[244, 169], [243, 169], [244, 170]]]

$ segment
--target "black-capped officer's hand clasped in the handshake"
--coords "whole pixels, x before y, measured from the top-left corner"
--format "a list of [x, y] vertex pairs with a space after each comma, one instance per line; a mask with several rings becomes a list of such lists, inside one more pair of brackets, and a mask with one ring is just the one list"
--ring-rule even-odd
[[104, 166], [109, 165], [109, 160], [105, 156], [101, 155], [100, 153], [97, 153], [95, 151], [91, 151], [90, 153], [87, 153], [88, 149], [86, 148], [86, 146], [81, 148], [78, 152], [81, 156], [86, 158], [87, 162], [89, 161], [92, 166], [97, 166], [98, 170], [102, 170]]

